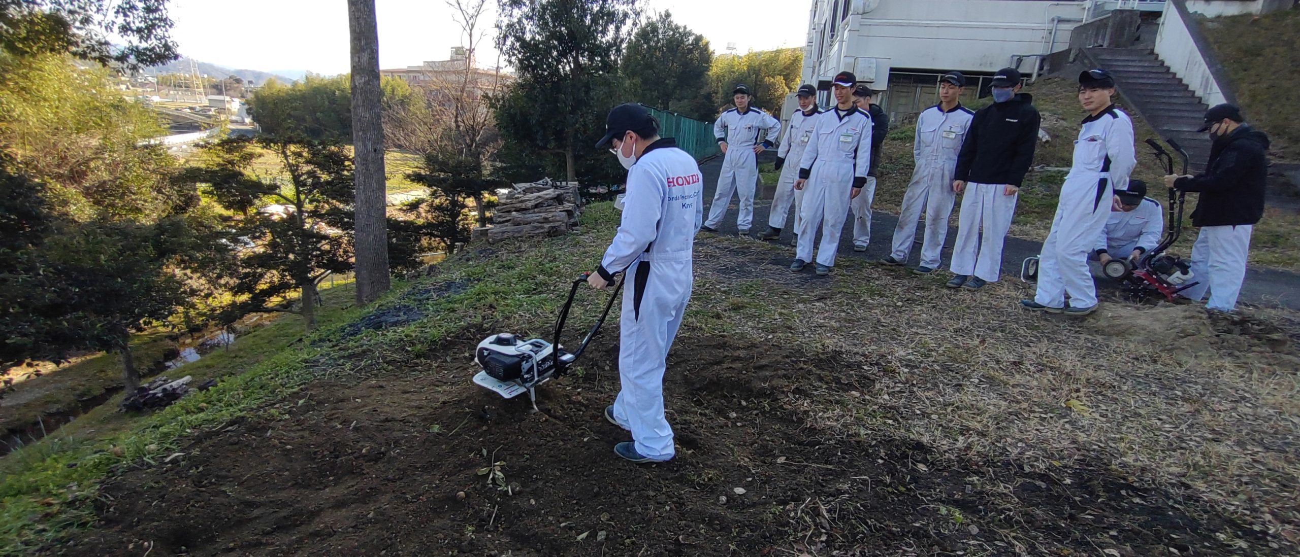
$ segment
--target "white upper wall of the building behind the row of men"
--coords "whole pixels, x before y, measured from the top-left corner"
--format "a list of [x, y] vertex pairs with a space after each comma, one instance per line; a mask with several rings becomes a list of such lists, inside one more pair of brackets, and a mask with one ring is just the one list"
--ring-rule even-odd
[[[848, 17], [845, 3], [849, 3]], [[1066, 48], [1088, 1], [814, 0], [803, 79], [826, 87], [841, 69], [884, 88], [892, 69], [996, 71], [1014, 55]], [[835, 10], [835, 13], [831, 13]], [[1057, 22], [1052, 43], [1053, 18]], [[833, 34], [833, 38], [831, 35]], [[1022, 70], [1032, 70], [1024, 60]]]

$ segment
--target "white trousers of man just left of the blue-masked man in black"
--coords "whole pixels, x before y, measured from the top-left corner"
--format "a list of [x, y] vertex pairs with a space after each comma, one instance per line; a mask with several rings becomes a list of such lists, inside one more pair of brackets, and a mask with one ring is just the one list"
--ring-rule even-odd
[[[946, 178], [946, 177], [944, 177]], [[902, 196], [902, 210], [898, 212], [898, 226], [894, 227], [893, 258], [907, 262], [911, 243], [916, 239], [916, 221], [922, 208], [926, 210], [926, 234], [920, 244], [920, 265], [939, 269], [944, 240], [948, 239], [948, 217], [953, 214], [957, 193], [953, 180], [913, 180]]]

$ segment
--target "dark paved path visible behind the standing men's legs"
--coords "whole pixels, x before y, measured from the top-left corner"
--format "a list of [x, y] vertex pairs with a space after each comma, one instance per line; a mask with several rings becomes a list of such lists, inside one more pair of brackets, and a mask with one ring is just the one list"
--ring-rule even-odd
[[[772, 161], [772, 155], [763, 153], [759, 156], [760, 161]], [[705, 175], [705, 216], [708, 214], [710, 206], [714, 199], [714, 190], [718, 187], [718, 174], [722, 171], [722, 157], [715, 157], [705, 161], [699, 165], [699, 170]], [[889, 187], [906, 187], [906, 184], [896, 183], [881, 183], [876, 186], [876, 190]], [[719, 234], [737, 234], [736, 230], [736, 204], [738, 197], [732, 197], [732, 203], [727, 210], [727, 216], [723, 218], [722, 229]], [[958, 199], [958, 205], [961, 200]], [[767, 214], [771, 209], [771, 200], [759, 199], [754, 201], [754, 222], [753, 234], [759, 234], [767, 230]], [[958, 206], [959, 209], [959, 206]], [[954, 209], [956, 212], [957, 209]], [[954, 213], [956, 214], [956, 213]], [[779, 240], [784, 245], [789, 245], [793, 240], [793, 232], [790, 232], [789, 223], [792, 219], [786, 219], [786, 227], [781, 231], [781, 239]], [[840, 238], [840, 253], [838, 257], [858, 257], [866, 260], [879, 260], [889, 253], [890, 240], [893, 238], [893, 229], [898, 223], [898, 217], [890, 213], [876, 210], [871, 216], [871, 245], [867, 247], [866, 252], [853, 251], [853, 219], [850, 218], [845, 222], [844, 231]], [[916, 232], [916, 239], [923, 236], [923, 231]], [[1179, 240], [1179, 245], [1190, 247], [1191, 240], [1195, 238], [1195, 230], [1190, 234], [1184, 232], [1184, 239]], [[953, 227], [948, 232], [948, 243], [944, 244], [944, 271], [948, 271], [948, 264], [952, 258], [953, 241], [957, 239], [957, 227]], [[1043, 244], [1040, 241], [1024, 240], [1019, 238], [1008, 238], [1006, 247], [1002, 251], [1002, 273], [1019, 274], [1020, 262], [1026, 257], [1036, 256], [1041, 249]], [[790, 248], [789, 257], [794, 258], [794, 248]], [[915, 245], [911, 251], [910, 266], [915, 266], [918, 258], [920, 257], [920, 245]], [[1018, 278], [1004, 277], [1004, 280], [1019, 280]], [[1098, 284], [1100, 287], [1109, 288], [1109, 284]], [[1283, 306], [1288, 309], [1300, 310], [1300, 275], [1290, 271], [1280, 271], [1273, 269], [1253, 269], [1248, 267], [1245, 271], [1245, 284], [1242, 287], [1240, 301], [1265, 305], [1265, 306]]]

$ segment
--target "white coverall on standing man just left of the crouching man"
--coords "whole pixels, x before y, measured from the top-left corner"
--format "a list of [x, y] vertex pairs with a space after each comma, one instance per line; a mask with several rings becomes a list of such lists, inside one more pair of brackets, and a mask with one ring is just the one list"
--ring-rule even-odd
[[1034, 301], [1048, 308], [1097, 305], [1097, 288], [1088, 271], [1088, 253], [1110, 218], [1114, 191], [1128, 190], [1134, 156], [1134, 123], [1114, 105], [1083, 119], [1074, 142], [1074, 164], [1061, 186], [1052, 232], [1039, 254]]

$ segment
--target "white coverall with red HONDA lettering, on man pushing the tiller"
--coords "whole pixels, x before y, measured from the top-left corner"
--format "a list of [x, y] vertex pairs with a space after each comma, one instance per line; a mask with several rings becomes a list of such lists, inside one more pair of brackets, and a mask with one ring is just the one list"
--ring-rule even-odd
[[696, 160], [660, 139], [628, 170], [623, 219], [598, 273], [627, 270], [619, 318], [619, 397], [614, 418], [632, 431], [637, 453], [673, 456], [663, 412], [663, 373], [693, 284], [692, 249], [703, 216]]

